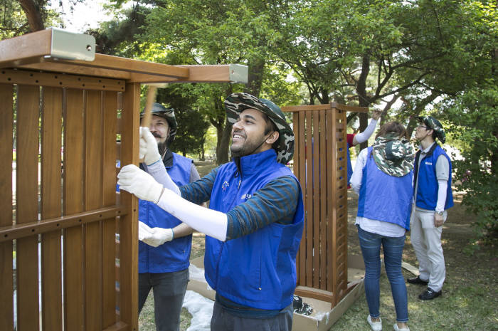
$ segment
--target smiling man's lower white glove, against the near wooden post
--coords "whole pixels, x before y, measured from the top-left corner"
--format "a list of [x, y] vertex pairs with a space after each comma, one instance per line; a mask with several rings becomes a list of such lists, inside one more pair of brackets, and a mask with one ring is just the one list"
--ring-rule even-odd
[[157, 204], [163, 186], [156, 182], [156, 180], [147, 172], [137, 167], [134, 164], [128, 164], [122, 167], [119, 174], [117, 174], [117, 184], [120, 189], [128, 191], [137, 196], [137, 198], [147, 201], [152, 201]]

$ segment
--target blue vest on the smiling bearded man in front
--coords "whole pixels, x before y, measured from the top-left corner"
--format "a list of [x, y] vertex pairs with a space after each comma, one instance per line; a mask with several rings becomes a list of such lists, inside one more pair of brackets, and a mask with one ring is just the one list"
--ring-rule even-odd
[[[276, 156], [269, 149], [241, 157], [242, 177], [235, 162], [223, 164], [213, 184], [209, 208], [226, 213], [272, 179], [295, 178], [289, 168], [277, 163]], [[303, 223], [300, 192], [292, 224], [269, 224], [226, 242], [206, 236], [204, 268], [208, 284], [240, 305], [265, 310], [287, 307], [296, 287], [296, 254]]]

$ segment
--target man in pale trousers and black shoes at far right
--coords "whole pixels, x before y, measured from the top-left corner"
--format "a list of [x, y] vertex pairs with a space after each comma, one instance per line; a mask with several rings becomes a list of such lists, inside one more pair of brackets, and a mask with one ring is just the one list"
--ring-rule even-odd
[[418, 298], [432, 300], [443, 293], [446, 274], [441, 233], [446, 210], [453, 206], [451, 160], [435, 142], [436, 139], [445, 142], [443, 125], [432, 116], [418, 117], [418, 121], [415, 139], [420, 141], [420, 149], [415, 155], [415, 210], [410, 220], [410, 239], [420, 275], [407, 281], [427, 285]]

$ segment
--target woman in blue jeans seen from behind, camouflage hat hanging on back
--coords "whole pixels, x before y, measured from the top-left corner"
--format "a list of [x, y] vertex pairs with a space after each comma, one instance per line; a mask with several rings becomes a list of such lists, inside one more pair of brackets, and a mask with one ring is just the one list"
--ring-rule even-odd
[[351, 187], [359, 194], [356, 227], [365, 262], [365, 294], [369, 322], [382, 330], [379, 312], [381, 246], [396, 308], [396, 331], [409, 331], [408, 299], [401, 273], [405, 233], [410, 229], [413, 196], [413, 147], [398, 122], [383, 125], [373, 147], [363, 149], [354, 167]]

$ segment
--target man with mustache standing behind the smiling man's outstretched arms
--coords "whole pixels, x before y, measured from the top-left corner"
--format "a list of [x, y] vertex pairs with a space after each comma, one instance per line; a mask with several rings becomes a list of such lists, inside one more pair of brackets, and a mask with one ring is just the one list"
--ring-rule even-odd
[[[178, 185], [199, 179], [192, 159], [169, 148], [178, 127], [174, 110], [153, 103], [151, 112], [148, 131], [154, 136], [152, 140], [155, 138], [154, 146], [159, 148], [155, 154], [144, 155], [140, 168], [149, 173], [161, 168]], [[181, 306], [189, 281], [192, 232], [190, 226], [156, 204], [139, 200], [139, 313], [152, 288], [156, 330], [179, 330]]]

